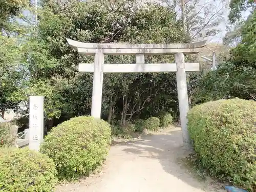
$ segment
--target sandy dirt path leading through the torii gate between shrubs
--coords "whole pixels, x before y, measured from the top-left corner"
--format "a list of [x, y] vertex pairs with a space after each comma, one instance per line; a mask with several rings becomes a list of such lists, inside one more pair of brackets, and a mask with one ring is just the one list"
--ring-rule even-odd
[[78, 183], [59, 185], [56, 192], [224, 192], [210, 181], [199, 181], [183, 166], [188, 152], [182, 148], [178, 128], [147, 135], [111, 147], [99, 175]]

